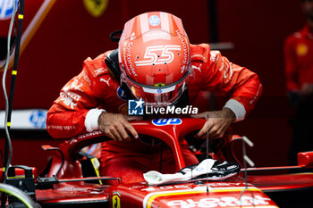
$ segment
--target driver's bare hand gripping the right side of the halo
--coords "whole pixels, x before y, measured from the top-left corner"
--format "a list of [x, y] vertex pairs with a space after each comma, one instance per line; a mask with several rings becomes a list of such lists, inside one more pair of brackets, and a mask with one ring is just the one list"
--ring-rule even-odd
[[207, 118], [207, 122], [200, 129], [196, 135], [200, 138], [206, 138], [208, 132], [208, 138], [220, 138], [224, 137], [226, 130], [229, 126], [236, 121], [236, 116], [229, 108], [224, 108], [221, 111], [215, 112], [201, 112], [196, 115], [191, 115], [193, 118]]

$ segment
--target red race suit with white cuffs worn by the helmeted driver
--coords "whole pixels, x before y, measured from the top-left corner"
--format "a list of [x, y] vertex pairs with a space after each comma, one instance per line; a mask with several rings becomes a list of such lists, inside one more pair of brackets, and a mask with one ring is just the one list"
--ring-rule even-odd
[[[229, 62], [218, 51], [210, 51], [207, 44], [191, 45], [191, 69], [188, 80], [189, 103], [200, 91], [210, 91], [230, 99], [230, 108], [237, 121], [244, 119], [262, 91], [258, 75]], [[127, 101], [118, 80], [110, 75], [106, 54], [84, 61], [80, 74], [61, 90], [60, 96], [47, 113], [47, 130], [52, 137], [72, 137], [98, 129], [97, 118], [103, 111], [127, 114]], [[104, 142], [101, 151], [101, 174], [122, 177], [123, 182], [142, 181], [144, 171], [173, 173], [171, 150], [147, 139], [131, 142]], [[197, 163], [184, 139], [180, 141], [186, 165]], [[160, 151], [162, 149], [162, 151]], [[160, 152], [162, 155], [160, 155]]]

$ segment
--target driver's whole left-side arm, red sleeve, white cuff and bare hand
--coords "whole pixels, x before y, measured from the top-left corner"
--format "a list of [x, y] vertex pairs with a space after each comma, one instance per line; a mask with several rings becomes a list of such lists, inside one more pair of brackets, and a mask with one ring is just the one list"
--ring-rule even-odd
[[[132, 137], [137, 132], [127, 118], [120, 113], [110, 113], [103, 109], [106, 100], [115, 95], [101, 79], [110, 79], [103, 56], [98, 57], [97, 68], [92, 68], [91, 59], [84, 62], [80, 74], [72, 78], [62, 88], [60, 96], [55, 100], [47, 113], [47, 131], [52, 137], [73, 137], [82, 133], [101, 130], [114, 140], [128, 139], [126, 131]], [[103, 65], [99, 65], [103, 64]], [[95, 74], [97, 69], [103, 69]], [[110, 93], [111, 92], [111, 93]]]

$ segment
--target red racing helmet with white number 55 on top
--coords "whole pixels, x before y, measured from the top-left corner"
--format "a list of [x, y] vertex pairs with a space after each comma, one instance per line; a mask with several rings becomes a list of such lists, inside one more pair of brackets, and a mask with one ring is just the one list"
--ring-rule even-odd
[[190, 42], [180, 18], [142, 13], [124, 25], [119, 42], [121, 79], [145, 104], [174, 104], [187, 87]]

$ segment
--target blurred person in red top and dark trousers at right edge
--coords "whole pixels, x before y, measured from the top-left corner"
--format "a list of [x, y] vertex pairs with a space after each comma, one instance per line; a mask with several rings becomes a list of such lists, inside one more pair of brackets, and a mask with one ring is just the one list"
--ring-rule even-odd
[[297, 164], [299, 152], [313, 150], [313, 0], [300, 2], [307, 24], [288, 36], [283, 48], [286, 88], [290, 104], [295, 107], [295, 115], [291, 120], [291, 165]]

